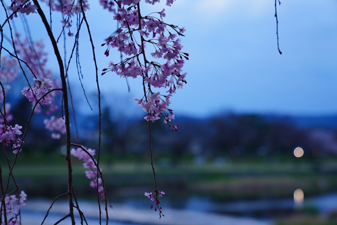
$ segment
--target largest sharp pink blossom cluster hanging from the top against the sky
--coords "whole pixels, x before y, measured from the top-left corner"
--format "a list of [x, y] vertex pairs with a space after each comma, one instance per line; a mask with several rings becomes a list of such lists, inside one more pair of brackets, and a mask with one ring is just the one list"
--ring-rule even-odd
[[[113, 19], [121, 25], [102, 44], [107, 46], [105, 55], [109, 56], [111, 48], [117, 48], [127, 56], [119, 63], [111, 61], [109, 68], [103, 69], [102, 75], [112, 71], [120, 77], [142, 77], [144, 95], [141, 99], [134, 100], [148, 113], [144, 119], [155, 121], [163, 116], [164, 122], [172, 131], [176, 131], [179, 126], [171, 122], [174, 114], [168, 107], [172, 94], [186, 83], [186, 73], [182, 73], [182, 67], [184, 59], [188, 60], [188, 53], [181, 52], [183, 46], [180, 39], [176, 38], [177, 35], [183, 36], [185, 29], [164, 22], [165, 9], [156, 12], [160, 18], [154, 16], [154, 13], [140, 15], [139, 1], [117, 1], [116, 11], [113, 9], [113, 1], [100, 0], [101, 5], [113, 12]], [[159, 0], [145, 2], [155, 4]], [[170, 6], [172, 2], [173, 0], [167, 0], [167, 5]], [[153, 49], [150, 56], [145, 53], [146, 45]], [[155, 62], [155, 59], [164, 59], [165, 63]], [[166, 89], [166, 94], [155, 91], [158, 88]]]

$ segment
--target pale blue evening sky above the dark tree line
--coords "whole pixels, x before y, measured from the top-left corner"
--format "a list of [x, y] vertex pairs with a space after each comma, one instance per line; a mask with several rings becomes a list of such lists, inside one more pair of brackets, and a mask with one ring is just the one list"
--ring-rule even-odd
[[[337, 114], [336, 0], [281, 1], [278, 16], [282, 55], [277, 49], [273, 0], [176, 0], [171, 7], [162, 1], [155, 6], [145, 4], [142, 9], [152, 12], [165, 7], [166, 21], [186, 28], [181, 43], [190, 54], [184, 67], [187, 84], [171, 98], [176, 115], [205, 117], [228, 111]], [[91, 1], [90, 7], [87, 15], [101, 71], [110, 60], [119, 59], [113, 50], [105, 57], [105, 48], [100, 46], [116, 23], [96, 1]], [[37, 15], [30, 19], [39, 22]], [[53, 26], [58, 20], [54, 19]], [[43, 32], [33, 33], [34, 38], [44, 36], [48, 40]], [[92, 92], [95, 77], [91, 50], [85, 33], [81, 38], [84, 86], [86, 92]], [[48, 45], [47, 49], [53, 52]], [[50, 65], [57, 71], [52, 61]], [[70, 78], [71, 85], [78, 88], [77, 75]], [[126, 111], [137, 107], [134, 97], [142, 97], [141, 80], [128, 80], [130, 93], [119, 76], [110, 73], [100, 77], [102, 92], [110, 104], [125, 105]]]

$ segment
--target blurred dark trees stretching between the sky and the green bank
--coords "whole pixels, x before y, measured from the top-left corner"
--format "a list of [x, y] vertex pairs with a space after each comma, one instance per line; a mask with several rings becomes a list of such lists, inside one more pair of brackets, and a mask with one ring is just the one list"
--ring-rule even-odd
[[[25, 129], [31, 105], [22, 98], [11, 109], [13, 124], [22, 124]], [[102, 101], [101, 159], [104, 163], [149, 161], [147, 121], [116, 116], [112, 107]], [[20, 116], [19, 116], [20, 115]], [[60, 113], [61, 115], [61, 113]], [[72, 117], [72, 115], [71, 115]], [[140, 116], [141, 117], [141, 116]], [[151, 124], [152, 149], [155, 161], [171, 166], [191, 162], [202, 164], [214, 161], [227, 162], [297, 162], [293, 150], [301, 147], [304, 156], [301, 162], [312, 162], [319, 170], [325, 158], [337, 152], [337, 127], [299, 127], [291, 117], [223, 114], [205, 119], [177, 116], [178, 132], [172, 132], [162, 121]], [[20, 158], [36, 163], [58, 163], [63, 160], [61, 140], [50, 138], [44, 129], [44, 115], [36, 114], [30, 123], [26, 143]], [[72, 141], [97, 150], [98, 118], [91, 114], [76, 113], [78, 129], [72, 128]], [[303, 124], [303, 119], [301, 120]], [[298, 124], [298, 123], [297, 123]], [[79, 141], [76, 135], [79, 135]], [[315, 158], [312, 150], [321, 155]], [[317, 156], [317, 155], [316, 155]]]

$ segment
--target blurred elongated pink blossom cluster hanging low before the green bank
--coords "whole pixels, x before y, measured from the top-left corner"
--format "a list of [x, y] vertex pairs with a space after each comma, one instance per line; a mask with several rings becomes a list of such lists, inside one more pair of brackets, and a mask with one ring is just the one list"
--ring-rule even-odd
[[[90, 182], [90, 186], [95, 188], [96, 190], [98, 190], [98, 195], [100, 196], [100, 198], [102, 200], [105, 199], [104, 197], [104, 188], [103, 188], [103, 184], [102, 184], [102, 179], [100, 177], [98, 177], [97, 174], [97, 166], [96, 166], [96, 160], [93, 160], [93, 157], [95, 155], [95, 151], [94, 149], [86, 149], [85, 147], [83, 147], [87, 152], [85, 152], [84, 150], [82, 150], [81, 148], [77, 148], [75, 149], [71, 149], [70, 153], [71, 155], [75, 156], [78, 159], [82, 159], [84, 161], [83, 166], [84, 168], [88, 168], [89, 170], [85, 171], [85, 175], [87, 176], [88, 179], [93, 179]], [[101, 169], [100, 169], [101, 170]]]

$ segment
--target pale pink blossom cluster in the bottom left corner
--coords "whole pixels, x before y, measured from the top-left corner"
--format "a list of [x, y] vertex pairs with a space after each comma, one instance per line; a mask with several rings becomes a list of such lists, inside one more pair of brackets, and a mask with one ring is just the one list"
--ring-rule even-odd
[[24, 191], [21, 191], [19, 197], [16, 195], [6, 195], [4, 198], [5, 205], [2, 206], [2, 202], [0, 202], [0, 215], [1, 219], [4, 219], [4, 209], [6, 210], [6, 217], [7, 217], [7, 223], [4, 221], [0, 221], [1, 225], [20, 225], [19, 222], [19, 212], [22, 206], [25, 206], [25, 203], [23, 203], [26, 200], [26, 193]]

